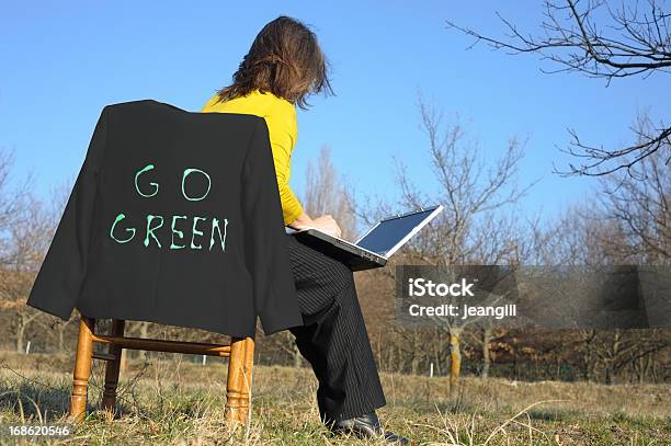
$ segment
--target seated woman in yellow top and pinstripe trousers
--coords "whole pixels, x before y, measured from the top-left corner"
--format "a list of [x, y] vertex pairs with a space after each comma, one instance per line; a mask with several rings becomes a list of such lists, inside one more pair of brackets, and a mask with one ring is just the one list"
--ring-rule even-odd
[[[284, 224], [294, 229], [315, 227], [340, 237], [330, 215], [311, 218], [289, 187], [291, 157], [298, 135], [295, 107], [306, 110], [306, 98], [320, 92], [333, 94], [317, 37], [297, 20], [280, 16], [257, 35], [232, 84], [217, 91], [202, 112], [263, 116]], [[292, 329], [292, 333], [319, 380], [317, 402], [322, 422], [338, 433], [384, 434], [390, 443], [407, 443], [384, 432], [375, 413], [386, 401], [352, 272], [294, 237], [287, 236], [287, 249], [304, 320], [304, 327]]]

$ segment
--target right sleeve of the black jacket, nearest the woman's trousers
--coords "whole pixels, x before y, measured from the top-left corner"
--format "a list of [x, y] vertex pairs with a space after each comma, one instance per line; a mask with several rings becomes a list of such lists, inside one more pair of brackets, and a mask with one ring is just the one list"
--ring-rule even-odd
[[254, 309], [265, 334], [303, 324], [275, 179], [268, 125], [259, 117], [242, 168], [242, 217]]

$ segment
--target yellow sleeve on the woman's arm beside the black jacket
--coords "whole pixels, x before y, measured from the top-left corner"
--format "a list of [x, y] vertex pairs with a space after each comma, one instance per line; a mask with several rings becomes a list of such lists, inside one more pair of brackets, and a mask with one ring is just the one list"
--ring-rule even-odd
[[282, 110], [273, 111], [273, 113], [265, 117], [270, 131], [285, 225], [293, 224], [303, 214], [303, 206], [300, 206], [296, 194], [294, 194], [289, 186], [292, 151], [296, 145], [298, 127], [296, 110], [292, 106], [291, 112], [287, 113], [288, 108], [283, 107]]

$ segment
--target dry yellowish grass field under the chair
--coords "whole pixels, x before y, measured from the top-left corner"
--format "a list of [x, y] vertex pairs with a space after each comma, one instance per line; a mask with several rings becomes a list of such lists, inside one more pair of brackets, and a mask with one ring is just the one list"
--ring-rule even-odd
[[[0, 424], [65, 422], [70, 357], [0, 353]], [[317, 382], [307, 368], [254, 368], [247, 428], [225, 427], [225, 363], [180, 355], [130, 363], [110, 420], [100, 404], [103, 366], [94, 362], [89, 414], [75, 435], [49, 444], [86, 445], [373, 445], [331, 436], [319, 423]], [[428, 445], [668, 445], [671, 386], [515, 382], [463, 379], [446, 397], [446, 378], [383, 374], [387, 428]], [[0, 442], [9, 442], [0, 437]], [[24, 442], [29, 444], [27, 441]], [[12, 443], [8, 443], [12, 444]]]

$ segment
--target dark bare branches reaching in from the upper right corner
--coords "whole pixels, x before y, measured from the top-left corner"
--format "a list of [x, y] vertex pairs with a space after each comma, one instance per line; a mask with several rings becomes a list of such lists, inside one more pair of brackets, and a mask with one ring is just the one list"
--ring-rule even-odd
[[[523, 32], [510, 20], [497, 15], [505, 25], [507, 39], [485, 36], [479, 32], [447, 21], [447, 27], [476, 38], [471, 45], [486, 42], [494, 49], [511, 54], [533, 53], [559, 68], [544, 72], [579, 72], [606, 80], [642, 76], [653, 72], [669, 73], [671, 68], [671, 13], [656, 0], [623, 2], [611, 7], [605, 0], [547, 0], [544, 2], [541, 35]], [[606, 14], [600, 15], [602, 10]], [[603, 21], [603, 23], [598, 23]], [[562, 174], [605, 175], [619, 170], [629, 171], [650, 155], [663, 151], [666, 163], [671, 152], [671, 127], [663, 121], [653, 131], [639, 134], [637, 142], [617, 148], [603, 148], [583, 142], [569, 129], [571, 140], [565, 152], [579, 160], [570, 163]]]

